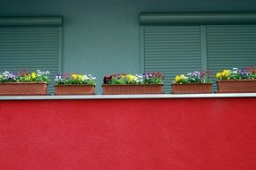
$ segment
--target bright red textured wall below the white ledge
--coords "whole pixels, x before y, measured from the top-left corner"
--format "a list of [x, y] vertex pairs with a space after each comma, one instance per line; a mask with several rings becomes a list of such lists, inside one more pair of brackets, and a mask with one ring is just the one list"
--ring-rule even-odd
[[1, 170], [256, 169], [256, 98], [0, 101]]

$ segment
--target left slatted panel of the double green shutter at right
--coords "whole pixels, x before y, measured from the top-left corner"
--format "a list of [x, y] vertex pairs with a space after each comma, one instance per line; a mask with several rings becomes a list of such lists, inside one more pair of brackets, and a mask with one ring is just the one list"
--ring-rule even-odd
[[200, 26], [143, 26], [145, 72], [163, 72], [165, 92], [176, 74], [201, 71]]

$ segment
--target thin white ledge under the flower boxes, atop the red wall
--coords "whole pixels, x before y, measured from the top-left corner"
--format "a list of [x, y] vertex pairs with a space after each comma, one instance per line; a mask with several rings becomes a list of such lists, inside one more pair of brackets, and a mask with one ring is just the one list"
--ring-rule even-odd
[[0, 100], [45, 99], [126, 99], [126, 98], [255, 98], [256, 93], [156, 94], [156, 95], [64, 95], [64, 96], [0, 96]]

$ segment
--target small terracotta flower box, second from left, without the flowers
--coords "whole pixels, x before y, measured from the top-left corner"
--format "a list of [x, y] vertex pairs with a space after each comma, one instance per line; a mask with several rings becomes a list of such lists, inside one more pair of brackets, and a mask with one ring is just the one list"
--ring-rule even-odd
[[87, 84], [55, 85], [55, 95], [94, 95], [95, 86]]

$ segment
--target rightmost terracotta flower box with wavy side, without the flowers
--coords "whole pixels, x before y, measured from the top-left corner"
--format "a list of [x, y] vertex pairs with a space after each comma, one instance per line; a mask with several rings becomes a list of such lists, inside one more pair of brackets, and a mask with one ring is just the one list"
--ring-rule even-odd
[[218, 80], [218, 93], [256, 92], [256, 80]]

